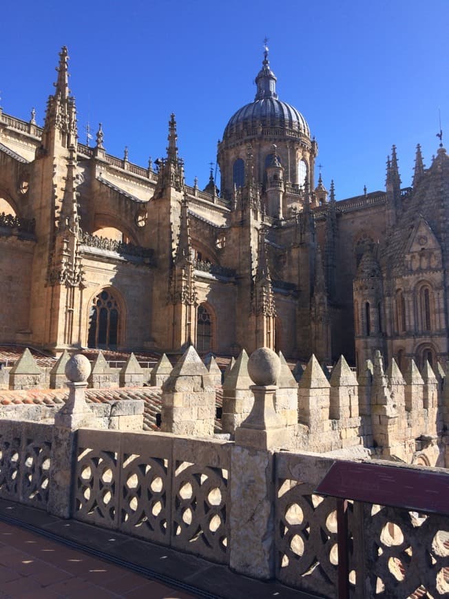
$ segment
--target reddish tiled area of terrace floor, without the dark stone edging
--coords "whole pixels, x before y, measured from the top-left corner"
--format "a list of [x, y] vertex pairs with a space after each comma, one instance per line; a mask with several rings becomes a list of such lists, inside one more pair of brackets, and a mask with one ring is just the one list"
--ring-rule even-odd
[[60, 543], [0, 521], [0, 598], [194, 599]]

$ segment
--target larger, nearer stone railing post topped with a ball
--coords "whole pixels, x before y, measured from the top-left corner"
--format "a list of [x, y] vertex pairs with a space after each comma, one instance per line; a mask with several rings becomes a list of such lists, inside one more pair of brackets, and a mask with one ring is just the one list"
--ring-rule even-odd
[[286, 428], [274, 410], [280, 360], [269, 348], [248, 361], [254, 405], [236, 429], [231, 450], [231, 569], [267, 580], [275, 574], [274, 449], [285, 446]]

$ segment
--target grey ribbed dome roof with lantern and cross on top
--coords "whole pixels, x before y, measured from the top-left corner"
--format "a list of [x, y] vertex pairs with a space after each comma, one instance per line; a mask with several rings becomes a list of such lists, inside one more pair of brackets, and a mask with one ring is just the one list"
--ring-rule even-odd
[[223, 139], [238, 132], [241, 127], [252, 129], [259, 125], [291, 129], [310, 137], [309, 125], [304, 116], [293, 106], [278, 99], [275, 89], [276, 77], [269, 67], [268, 48], [265, 48], [262, 69], [258, 72], [255, 83], [258, 86], [255, 100], [231, 116], [226, 125]]

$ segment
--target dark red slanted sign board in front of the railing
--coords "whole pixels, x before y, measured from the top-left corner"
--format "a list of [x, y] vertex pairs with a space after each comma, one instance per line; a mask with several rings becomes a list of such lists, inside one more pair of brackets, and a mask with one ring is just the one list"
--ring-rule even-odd
[[449, 472], [338, 461], [316, 493], [449, 516]]

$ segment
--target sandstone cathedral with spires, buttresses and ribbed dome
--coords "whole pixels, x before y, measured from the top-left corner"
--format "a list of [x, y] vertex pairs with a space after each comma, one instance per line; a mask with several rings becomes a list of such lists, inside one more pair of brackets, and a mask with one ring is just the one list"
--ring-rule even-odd
[[45, 123], [0, 109], [0, 342], [238, 355], [261, 346], [404, 370], [448, 354], [449, 158], [396, 149], [386, 191], [337, 201], [315, 181], [317, 141], [278, 98], [264, 52], [253, 101], [218, 143], [220, 187], [187, 185], [171, 114], [147, 167], [79, 143], [60, 53]]

